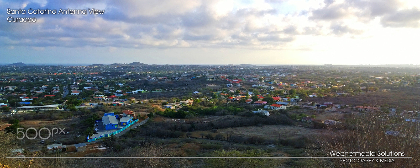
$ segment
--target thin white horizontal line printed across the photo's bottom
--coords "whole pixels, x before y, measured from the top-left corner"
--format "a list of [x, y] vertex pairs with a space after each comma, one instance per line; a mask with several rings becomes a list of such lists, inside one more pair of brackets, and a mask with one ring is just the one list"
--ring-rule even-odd
[[182, 157], [182, 156], [163, 156], [163, 157], [158, 157], [158, 156], [118, 156], [118, 157], [105, 157], [105, 156], [88, 156], [88, 157], [83, 157], [83, 156], [63, 156], [63, 157], [48, 157], [48, 156], [37, 156], [37, 157], [30, 157], [30, 156], [26, 156], [26, 157], [18, 157], [18, 156], [13, 156], [13, 157], [6, 157], [6, 158], [412, 158], [412, 157], [397, 157], [397, 156], [390, 156], [390, 157], [330, 157], [330, 156], [318, 156], [318, 157], [310, 157], [310, 156], [300, 156], [300, 157], [289, 157], [289, 156], [273, 156], [273, 157], [205, 157], [205, 156], [197, 156], [197, 157]]

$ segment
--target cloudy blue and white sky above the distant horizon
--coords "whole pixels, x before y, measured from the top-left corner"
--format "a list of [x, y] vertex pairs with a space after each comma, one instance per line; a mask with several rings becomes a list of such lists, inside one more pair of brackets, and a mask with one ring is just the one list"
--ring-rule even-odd
[[420, 64], [419, 21], [420, 0], [0, 0], [0, 64]]

